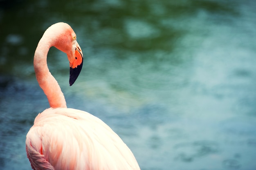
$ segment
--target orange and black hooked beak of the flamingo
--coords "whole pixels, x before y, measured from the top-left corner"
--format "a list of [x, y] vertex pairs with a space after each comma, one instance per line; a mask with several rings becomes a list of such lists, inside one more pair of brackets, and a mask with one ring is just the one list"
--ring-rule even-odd
[[83, 53], [79, 44], [77, 43], [74, 48], [73, 61], [70, 61], [70, 86], [75, 83], [83, 67]]

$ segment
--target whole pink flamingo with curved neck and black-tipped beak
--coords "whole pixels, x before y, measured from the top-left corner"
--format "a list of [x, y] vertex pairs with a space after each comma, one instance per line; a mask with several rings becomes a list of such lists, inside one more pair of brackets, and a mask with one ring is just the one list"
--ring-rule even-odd
[[67, 54], [70, 85], [83, 65], [83, 53], [70, 25], [59, 22], [47, 28], [34, 54], [34, 70], [50, 108], [36, 116], [27, 133], [26, 151], [32, 169], [139, 170], [131, 150], [107, 124], [90, 113], [67, 108], [47, 67], [52, 46]]

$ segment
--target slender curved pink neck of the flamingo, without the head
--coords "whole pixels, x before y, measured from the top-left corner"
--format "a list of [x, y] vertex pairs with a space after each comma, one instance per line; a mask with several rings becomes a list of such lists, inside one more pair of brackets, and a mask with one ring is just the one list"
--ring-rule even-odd
[[47, 41], [44, 36], [40, 39], [34, 55], [34, 69], [38, 84], [43, 89], [48, 98], [50, 107], [67, 107], [66, 100], [61, 87], [58, 85], [56, 79], [49, 72], [47, 66], [47, 54], [52, 45], [51, 41]]

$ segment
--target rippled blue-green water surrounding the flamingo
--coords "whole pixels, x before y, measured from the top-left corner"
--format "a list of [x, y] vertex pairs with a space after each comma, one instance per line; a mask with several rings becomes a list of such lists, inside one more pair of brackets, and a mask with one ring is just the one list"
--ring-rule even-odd
[[47, 27], [69, 23], [85, 57], [48, 65], [67, 106], [106, 122], [141, 170], [256, 169], [256, 2], [0, 2], [0, 166], [30, 169], [25, 136], [49, 107], [33, 54]]

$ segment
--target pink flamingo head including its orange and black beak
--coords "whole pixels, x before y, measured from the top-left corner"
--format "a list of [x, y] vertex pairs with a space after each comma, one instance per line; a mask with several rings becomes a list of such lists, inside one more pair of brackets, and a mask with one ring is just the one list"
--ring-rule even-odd
[[70, 62], [70, 86], [74, 84], [83, 66], [83, 52], [76, 41], [76, 34], [66, 23], [59, 22], [51, 26], [55, 33], [53, 35], [53, 46], [67, 54]]

